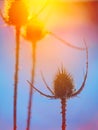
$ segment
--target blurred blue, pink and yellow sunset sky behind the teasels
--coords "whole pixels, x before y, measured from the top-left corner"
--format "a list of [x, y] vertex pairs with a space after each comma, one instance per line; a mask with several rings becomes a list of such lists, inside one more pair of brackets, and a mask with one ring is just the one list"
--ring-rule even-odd
[[[30, 8], [36, 14], [39, 7], [36, 10]], [[48, 5], [38, 17], [47, 30], [73, 45], [83, 47], [83, 39], [86, 40], [89, 48], [88, 77], [82, 93], [67, 101], [67, 130], [98, 130], [98, 2], [69, 3], [59, 0], [57, 4]], [[25, 130], [29, 97], [27, 80], [31, 77], [32, 48], [31, 43], [22, 37], [20, 42], [17, 124], [18, 130]], [[12, 26], [5, 26], [1, 18], [0, 46], [0, 130], [12, 130], [15, 30]], [[73, 76], [76, 89], [81, 86], [85, 73], [84, 51], [72, 49], [47, 35], [37, 43], [36, 57], [35, 86], [44, 93], [49, 94], [40, 71], [52, 88], [55, 74], [62, 64]], [[60, 112], [60, 100], [49, 100], [34, 92], [31, 129], [60, 130]]]

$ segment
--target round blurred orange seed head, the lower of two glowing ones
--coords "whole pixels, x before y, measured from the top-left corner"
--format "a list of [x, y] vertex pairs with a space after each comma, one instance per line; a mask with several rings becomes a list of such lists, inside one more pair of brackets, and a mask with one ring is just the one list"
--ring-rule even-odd
[[37, 42], [41, 40], [44, 33], [44, 26], [38, 20], [31, 20], [24, 29], [24, 38], [31, 42]]

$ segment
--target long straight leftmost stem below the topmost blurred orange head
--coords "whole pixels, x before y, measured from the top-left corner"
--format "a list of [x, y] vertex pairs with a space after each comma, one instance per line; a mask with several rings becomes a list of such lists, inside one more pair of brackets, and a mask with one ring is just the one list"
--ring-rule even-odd
[[16, 63], [14, 74], [14, 113], [13, 113], [13, 129], [17, 129], [17, 90], [18, 90], [18, 70], [19, 70], [19, 50], [20, 50], [20, 28], [16, 27]]

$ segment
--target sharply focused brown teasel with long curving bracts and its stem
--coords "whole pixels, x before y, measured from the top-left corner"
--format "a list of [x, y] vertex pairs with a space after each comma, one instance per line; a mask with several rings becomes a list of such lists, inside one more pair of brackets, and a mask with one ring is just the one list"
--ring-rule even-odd
[[[86, 43], [85, 43], [86, 45]], [[67, 106], [67, 100], [69, 98], [76, 97], [78, 94], [80, 94], [85, 86], [86, 79], [88, 75], [88, 48], [86, 46], [86, 73], [84, 75], [84, 80], [82, 82], [82, 85], [79, 90], [75, 90], [74, 82], [72, 76], [62, 67], [58, 70], [54, 82], [53, 82], [53, 90], [48, 86], [46, 83], [43, 75], [42, 79], [45, 83], [47, 89], [51, 92], [51, 95], [46, 95], [40, 90], [38, 90], [33, 84], [31, 84], [29, 81], [28, 83], [33, 87], [38, 93], [41, 95], [50, 98], [50, 99], [60, 99], [61, 100], [61, 109], [62, 109], [62, 130], [66, 130], [66, 106]]]

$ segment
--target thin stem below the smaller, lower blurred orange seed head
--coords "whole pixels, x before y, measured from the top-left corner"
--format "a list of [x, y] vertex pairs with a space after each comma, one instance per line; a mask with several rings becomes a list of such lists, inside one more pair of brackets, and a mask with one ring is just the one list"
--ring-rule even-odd
[[[31, 74], [31, 83], [34, 84], [34, 78], [35, 78], [35, 67], [36, 67], [36, 43], [32, 43], [32, 74]], [[27, 117], [27, 130], [30, 130], [30, 123], [31, 123], [31, 108], [32, 108], [32, 94], [33, 94], [33, 88], [30, 85], [30, 93], [29, 93], [29, 102], [28, 102], [28, 117]]]

